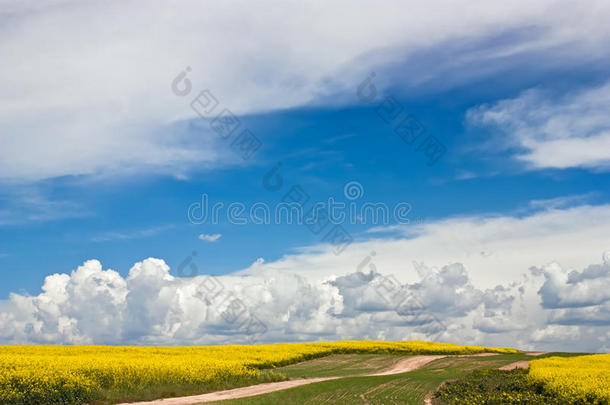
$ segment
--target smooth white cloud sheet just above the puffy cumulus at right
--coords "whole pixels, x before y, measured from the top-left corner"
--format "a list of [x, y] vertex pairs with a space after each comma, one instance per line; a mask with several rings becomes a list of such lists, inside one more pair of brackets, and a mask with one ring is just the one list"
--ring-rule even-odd
[[[381, 231], [383, 228], [378, 229]], [[413, 262], [442, 268], [462, 263], [477, 286], [494, 288], [516, 280], [531, 266], [549, 262], [566, 268], [584, 268], [591, 258], [610, 248], [610, 205], [579, 205], [547, 209], [528, 215], [479, 215], [429, 221], [419, 225], [386, 228], [383, 235], [367, 238], [355, 235], [340, 256], [331, 246], [303, 248], [262, 265], [286, 273], [323, 278], [351, 273], [376, 252], [375, 266], [380, 272], [393, 273], [402, 282], [415, 282], [418, 275]], [[348, 229], [350, 231], [350, 229]], [[308, 232], [303, 228], [303, 232]], [[259, 269], [246, 270], [256, 274]]]

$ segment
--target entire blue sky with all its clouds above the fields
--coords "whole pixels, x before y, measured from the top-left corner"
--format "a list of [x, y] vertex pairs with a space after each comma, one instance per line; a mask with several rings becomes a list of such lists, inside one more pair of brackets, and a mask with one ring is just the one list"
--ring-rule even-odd
[[[137, 2], [3, 4], [0, 341], [216, 343], [205, 322], [184, 332], [190, 307], [167, 297], [204, 275], [224, 280], [251, 311], [285, 320], [266, 321], [265, 341], [429, 337], [379, 303], [356, 302], [379, 280], [357, 293], [350, 269], [375, 250], [380, 274], [424, 294], [453, 327], [441, 339], [542, 349], [584, 341], [607, 351], [594, 336], [610, 336], [610, 297], [601, 291], [610, 277], [610, 31], [602, 27], [610, 9], [481, 4], [453, 10], [454, 19], [443, 6], [408, 15], [401, 2], [358, 3], [337, 22], [339, 3], [309, 5], [301, 12], [315, 22], [304, 27], [292, 4], [268, 15], [245, 4], [190, 4], [168, 19], [161, 4], [143, 14]], [[416, 17], [430, 26], [405, 27]], [[31, 61], [35, 71], [26, 69]], [[171, 83], [186, 66], [191, 90], [176, 95]], [[372, 72], [376, 97], [362, 101], [358, 86]], [[232, 150], [235, 135], [222, 139], [190, 108], [203, 89], [219, 100], [213, 116], [230, 109], [261, 141], [251, 158]], [[387, 97], [402, 106], [391, 123], [379, 115]], [[407, 115], [425, 127], [413, 145], [393, 130]], [[428, 136], [446, 148], [433, 165], [417, 150]], [[269, 191], [263, 178], [278, 162], [283, 186]], [[293, 185], [310, 201], [349, 203], [349, 182], [363, 192], [358, 206], [408, 203], [410, 222], [343, 223], [353, 243], [334, 255], [304, 225], [187, 217], [202, 194], [211, 204], [275, 207]], [[199, 277], [180, 277], [185, 259]], [[163, 318], [126, 332], [113, 315], [115, 334], [87, 329], [91, 315], [67, 301], [91, 294], [101, 306], [114, 297], [119, 312], [152, 311], [133, 303], [136, 263], [161, 277], [147, 288], [158, 287], [154, 305], [183, 314], [180, 327], [159, 332]], [[79, 272], [106, 281], [83, 284]], [[283, 289], [315, 298], [291, 302]], [[579, 298], [585, 293], [591, 300]], [[527, 326], [499, 333], [523, 308], [532, 313]], [[363, 319], [371, 326], [350, 323]], [[455, 332], [462, 325], [467, 332]], [[248, 338], [233, 332], [235, 341]]]

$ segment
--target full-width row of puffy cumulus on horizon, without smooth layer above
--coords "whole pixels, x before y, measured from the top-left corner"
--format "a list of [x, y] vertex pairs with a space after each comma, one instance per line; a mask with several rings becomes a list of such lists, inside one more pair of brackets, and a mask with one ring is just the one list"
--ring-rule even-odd
[[[572, 273], [580, 281], [565, 279], [563, 296], [579, 297], [578, 282], [597, 274], [589, 270], [595, 266]], [[48, 276], [36, 296], [11, 294], [1, 302], [0, 342], [434, 339], [596, 351], [605, 347], [597, 337], [609, 333], [607, 302], [576, 308], [588, 315], [540, 305], [556, 264], [491, 289], [477, 288], [460, 263], [441, 269], [418, 264], [419, 279], [405, 284], [374, 268], [316, 279], [265, 268], [262, 260], [252, 267], [257, 275], [180, 278], [163, 260], [149, 258], [122, 277], [89, 260], [71, 274]]]

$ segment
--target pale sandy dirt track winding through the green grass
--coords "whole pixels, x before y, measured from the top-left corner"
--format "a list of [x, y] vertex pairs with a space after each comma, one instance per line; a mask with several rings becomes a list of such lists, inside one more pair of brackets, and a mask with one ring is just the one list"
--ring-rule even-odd
[[[468, 356], [495, 356], [497, 353], [477, 353], [471, 355], [459, 355], [455, 357], [468, 357]], [[416, 370], [431, 361], [442, 359], [444, 357], [453, 357], [451, 355], [419, 355], [419, 356], [408, 356], [404, 359], [400, 359], [398, 362], [393, 364], [390, 368], [373, 374], [360, 375], [360, 377], [373, 377], [380, 375], [391, 375], [401, 374], [408, 371]], [[358, 377], [358, 376], [346, 376], [346, 377]], [[166, 398], [158, 399], [155, 401], [148, 402], [133, 402], [138, 405], [193, 405], [204, 402], [220, 401], [223, 399], [236, 399], [252, 397], [255, 395], [268, 394], [270, 392], [286, 390], [289, 388], [299, 387], [301, 385], [312, 384], [320, 381], [335, 380], [337, 378], [345, 377], [320, 377], [320, 378], [300, 378], [295, 380], [280, 381], [273, 383], [264, 383], [251, 385], [248, 387], [233, 388], [230, 390], [210, 392], [208, 394], [193, 395], [189, 397], [179, 398]], [[121, 404], [127, 405], [127, 404]]]

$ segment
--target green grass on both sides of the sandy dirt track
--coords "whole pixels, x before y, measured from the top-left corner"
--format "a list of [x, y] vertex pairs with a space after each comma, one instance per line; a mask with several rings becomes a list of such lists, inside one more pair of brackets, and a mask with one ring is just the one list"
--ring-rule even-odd
[[393, 355], [335, 355], [307, 361], [276, 371], [290, 378], [347, 376], [255, 397], [212, 402], [218, 405], [284, 404], [422, 404], [425, 396], [448, 380], [469, 375], [475, 370], [499, 368], [519, 360], [524, 354], [490, 357], [453, 357], [435, 360], [411, 372], [358, 377], [387, 368], [396, 361]]

